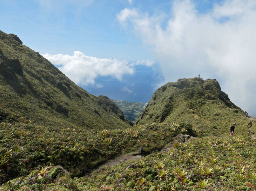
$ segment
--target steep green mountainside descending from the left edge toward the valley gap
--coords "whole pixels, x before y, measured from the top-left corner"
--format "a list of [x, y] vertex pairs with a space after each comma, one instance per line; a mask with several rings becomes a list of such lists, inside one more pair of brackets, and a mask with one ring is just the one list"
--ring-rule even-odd
[[38, 124], [56, 127], [105, 129], [132, 125], [114, 102], [110, 105], [108, 102], [112, 101], [76, 86], [38, 52], [23, 45], [16, 35], [0, 31], [0, 106], [3, 108]]

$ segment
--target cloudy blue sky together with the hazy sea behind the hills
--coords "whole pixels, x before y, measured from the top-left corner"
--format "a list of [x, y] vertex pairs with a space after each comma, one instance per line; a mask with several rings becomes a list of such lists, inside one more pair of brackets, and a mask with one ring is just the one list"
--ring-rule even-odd
[[0, 0], [0, 21], [96, 96], [147, 103], [200, 74], [256, 116], [255, 0]]

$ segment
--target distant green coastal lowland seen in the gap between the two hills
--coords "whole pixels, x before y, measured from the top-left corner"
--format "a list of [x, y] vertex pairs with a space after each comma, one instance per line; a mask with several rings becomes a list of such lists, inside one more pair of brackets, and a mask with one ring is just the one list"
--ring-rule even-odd
[[123, 111], [123, 115], [131, 122], [135, 122], [141, 115], [147, 103], [141, 102], [127, 102], [124, 100], [112, 100]]

